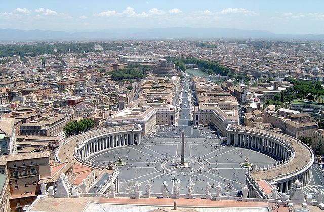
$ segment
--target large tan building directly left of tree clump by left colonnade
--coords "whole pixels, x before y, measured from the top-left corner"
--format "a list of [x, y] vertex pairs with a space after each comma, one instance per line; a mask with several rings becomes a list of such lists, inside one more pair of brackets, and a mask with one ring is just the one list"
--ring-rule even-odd
[[55, 115], [47, 120], [34, 120], [21, 124], [21, 135], [64, 136], [63, 128], [70, 122], [70, 117]]

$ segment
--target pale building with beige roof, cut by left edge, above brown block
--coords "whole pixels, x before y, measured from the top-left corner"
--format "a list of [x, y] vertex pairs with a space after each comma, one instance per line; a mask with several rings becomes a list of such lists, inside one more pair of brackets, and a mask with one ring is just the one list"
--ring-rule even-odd
[[0, 117], [0, 155], [17, 154], [15, 118]]

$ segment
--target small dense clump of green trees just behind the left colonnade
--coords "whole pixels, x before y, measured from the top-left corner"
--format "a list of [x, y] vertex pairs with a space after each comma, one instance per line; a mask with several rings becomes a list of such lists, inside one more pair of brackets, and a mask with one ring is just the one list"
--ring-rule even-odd
[[77, 135], [80, 132], [86, 132], [89, 129], [93, 128], [94, 121], [93, 119], [83, 119], [81, 121], [71, 121], [63, 128], [66, 137], [70, 137], [72, 135]]

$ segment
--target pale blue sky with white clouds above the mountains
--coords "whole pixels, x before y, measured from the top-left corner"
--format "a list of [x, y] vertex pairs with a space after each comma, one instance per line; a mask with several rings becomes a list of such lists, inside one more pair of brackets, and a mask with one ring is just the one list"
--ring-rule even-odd
[[0, 0], [0, 28], [66, 32], [111, 28], [236, 28], [324, 34], [324, 1]]

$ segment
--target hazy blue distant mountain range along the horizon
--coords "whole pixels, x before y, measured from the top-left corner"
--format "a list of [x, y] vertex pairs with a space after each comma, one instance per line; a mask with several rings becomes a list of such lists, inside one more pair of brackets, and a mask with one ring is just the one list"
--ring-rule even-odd
[[242, 30], [229, 28], [111, 28], [93, 32], [64, 32], [51, 30], [0, 29], [0, 41], [62, 41], [62, 40], [121, 40], [121, 39], [298, 39], [324, 40], [324, 35], [274, 34], [263, 30]]

